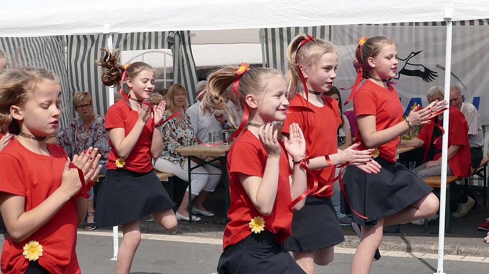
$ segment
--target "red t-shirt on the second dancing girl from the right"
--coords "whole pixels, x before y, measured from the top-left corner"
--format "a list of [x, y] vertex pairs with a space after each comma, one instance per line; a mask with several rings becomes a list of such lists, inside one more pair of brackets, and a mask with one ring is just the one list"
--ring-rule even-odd
[[[289, 126], [297, 123], [304, 133], [306, 139], [306, 155], [315, 153], [325, 153], [327, 155], [338, 152], [337, 129], [341, 124], [340, 111], [336, 100], [329, 96], [322, 97], [324, 106], [316, 107], [309, 103], [300, 94], [297, 94], [290, 100], [290, 106], [306, 106], [314, 110], [315, 113], [294, 112], [288, 113], [283, 122], [282, 134], [289, 134]], [[307, 115], [309, 115], [309, 125], [307, 124]], [[332, 185], [330, 182], [334, 177], [334, 168], [325, 167], [313, 170], [318, 180], [318, 190], [325, 185]], [[307, 176], [307, 188], [312, 189], [313, 181], [311, 176]], [[328, 187], [317, 194], [311, 194], [316, 197], [329, 198], [333, 195], [333, 187]]]

